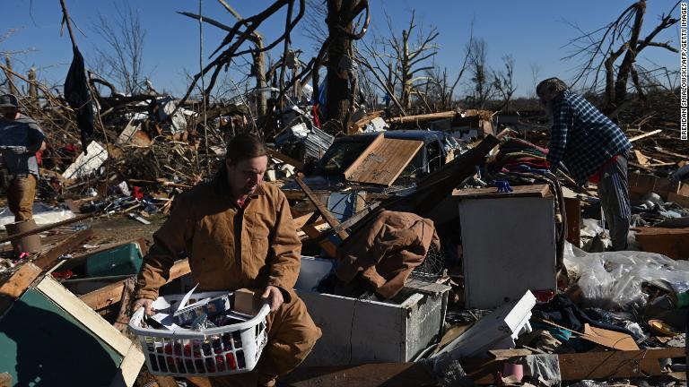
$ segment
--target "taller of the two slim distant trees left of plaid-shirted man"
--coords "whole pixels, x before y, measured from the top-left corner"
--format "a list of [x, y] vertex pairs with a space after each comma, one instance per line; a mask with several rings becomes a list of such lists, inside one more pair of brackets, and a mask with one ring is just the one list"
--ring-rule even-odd
[[469, 45], [469, 70], [471, 73], [472, 89], [467, 96], [467, 102], [473, 107], [483, 109], [489, 99], [495, 95], [495, 82], [488, 67], [488, 44], [483, 38], [472, 39]]

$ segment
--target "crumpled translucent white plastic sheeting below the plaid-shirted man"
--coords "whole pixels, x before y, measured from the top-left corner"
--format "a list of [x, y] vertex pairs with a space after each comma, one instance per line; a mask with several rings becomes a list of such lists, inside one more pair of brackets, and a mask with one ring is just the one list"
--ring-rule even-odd
[[641, 308], [644, 282], [662, 281], [677, 293], [689, 289], [689, 261], [637, 251], [586, 253], [567, 244], [564, 264], [579, 277], [582, 303], [604, 309]]

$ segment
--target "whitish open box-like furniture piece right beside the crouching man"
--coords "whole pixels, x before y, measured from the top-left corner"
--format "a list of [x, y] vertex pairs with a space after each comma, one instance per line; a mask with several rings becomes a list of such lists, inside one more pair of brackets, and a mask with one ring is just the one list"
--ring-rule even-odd
[[407, 286], [391, 300], [371, 301], [314, 291], [328, 272], [324, 262], [301, 261], [295, 290], [323, 332], [303, 366], [412, 361], [442, 333], [449, 286]]

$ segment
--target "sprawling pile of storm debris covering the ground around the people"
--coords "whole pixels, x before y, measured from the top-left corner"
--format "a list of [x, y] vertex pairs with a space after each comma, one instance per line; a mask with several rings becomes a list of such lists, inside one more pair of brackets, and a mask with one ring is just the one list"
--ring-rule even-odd
[[[94, 354], [86, 376], [103, 383], [170, 383], [142, 370], [144, 355], [120, 332], [151, 233], [94, 242], [89, 224], [73, 225], [118, 214], [160, 222], [177, 194], [214, 176], [227, 138], [255, 125], [241, 107], [212, 107], [202, 120], [195, 105], [175, 111], [174, 99], [144, 97], [102, 99], [111, 113], [86, 151], [68, 110], [31, 111], [51, 144], [39, 197], [52, 205], [47, 213], [68, 214], [4, 238], [15, 242], [4, 249], [0, 280], [7, 343], [25, 340], [18, 327], [34, 309], [49, 309], [57, 325], [46, 321], [36, 340], [58, 348], [50, 332], [74, 332], [74, 347], [88, 342]], [[374, 113], [351, 128], [362, 133], [335, 136], [309, 106], [281, 115], [265, 128], [275, 133], [265, 136], [266, 179], [290, 202], [303, 245], [295, 288], [323, 331], [281, 382], [685, 382], [689, 185], [685, 157], [651, 140], [658, 133], [632, 138], [636, 157], [649, 158], [639, 159], [644, 174], [630, 173], [638, 251], [611, 253], [595, 186], [582, 190], [552, 174], [543, 133], [503, 130], [528, 127], [519, 119]], [[54, 117], [63, 118], [51, 126]], [[31, 254], [14, 254], [17, 241], [39, 233]], [[186, 259], [169, 281], [173, 293], [193, 287]], [[43, 377], [65, 366], [49, 351], [41, 356], [52, 365]], [[13, 380], [36, 373], [16, 367]]]

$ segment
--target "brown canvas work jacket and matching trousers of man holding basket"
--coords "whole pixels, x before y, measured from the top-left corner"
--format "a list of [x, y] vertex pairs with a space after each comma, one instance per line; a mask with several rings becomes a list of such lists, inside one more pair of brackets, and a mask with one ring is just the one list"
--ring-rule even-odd
[[271, 385], [301, 364], [321, 332], [293, 291], [301, 242], [284, 193], [262, 183], [240, 208], [229, 192], [221, 173], [175, 199], [170, 219], [153, 234], [136, 297], [155, 299], [182, 251], [199, 289], [280, 288], [284, 304], [268, 315], [268, 343], [254, 371], [210, 378], [214, 386]]

